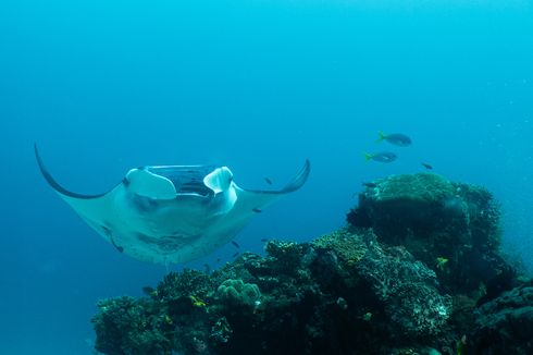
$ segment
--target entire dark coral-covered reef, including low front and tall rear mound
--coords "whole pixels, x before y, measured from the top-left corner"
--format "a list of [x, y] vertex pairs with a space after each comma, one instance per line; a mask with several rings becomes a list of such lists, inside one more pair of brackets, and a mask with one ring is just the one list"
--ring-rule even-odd
[[171, 272], [146, 297], [101, 301], [96, 350], [532, 353], [533, 285], [499, 255], [492, 195], [427, 173], [370, 185], [331, 234], [271, 241], [265, 256]]

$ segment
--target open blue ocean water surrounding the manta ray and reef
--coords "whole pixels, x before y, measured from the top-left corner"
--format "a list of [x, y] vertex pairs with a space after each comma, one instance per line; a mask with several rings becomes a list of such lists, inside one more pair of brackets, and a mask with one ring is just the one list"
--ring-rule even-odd
[[[361, 182], [427, 162], [495, 194], [505, 248], [533, 270], [531, 34], [526, 0], [2, 2], [0, 353], [90, 354], [96, 302], [166, 272], [75, 216], [34, 142], [88, 194], [144, 164], [225, 164], [275, 187], [309, 158], [307, 185], [235, 238], [257, 253], [342, 227]], [[380, 130], [413, 144], [377, 144]], [[380, 150], [399, 158], [364, 161]]]

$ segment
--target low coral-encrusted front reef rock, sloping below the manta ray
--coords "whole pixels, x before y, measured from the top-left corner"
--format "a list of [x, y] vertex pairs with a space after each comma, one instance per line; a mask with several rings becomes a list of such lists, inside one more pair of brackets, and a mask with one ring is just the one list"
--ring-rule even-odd
[[[244, 254], [211, 276], [172, 272], [149, 297], [101, 304], [92, 320], [96, 348], [104, 354], [139, 353], [135, 346], [159, 354], [380, 354], [424, 336], [420, 346], [435, 346], [449, 307], [436, 291], [434, 272], [405, 249], [369, 252], [370, 240], [368, 233], [342, 229], [311, 244], [270, 242], [266, 256]], [[383, 281], [389, 290], [369, 282], [388, 278], [391, 268], [400, 272]]]

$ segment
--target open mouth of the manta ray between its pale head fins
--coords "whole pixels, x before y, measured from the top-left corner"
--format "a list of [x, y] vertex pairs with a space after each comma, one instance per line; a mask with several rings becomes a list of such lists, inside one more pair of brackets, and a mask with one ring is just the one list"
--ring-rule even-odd
[[215, 169], [213, 166], [168, 166], [145, 169], [152, 174], [169, 179], [177, 194], [213, 196], [213, 191], [203, 183], [203, 178]]

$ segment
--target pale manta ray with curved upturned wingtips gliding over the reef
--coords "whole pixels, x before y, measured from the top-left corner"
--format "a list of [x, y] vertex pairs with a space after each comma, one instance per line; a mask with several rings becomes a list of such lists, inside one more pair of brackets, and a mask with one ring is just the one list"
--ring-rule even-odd
[[278, 191], [239, 187], [227, 167], [147, 166], [129, 170], [109, 192], [73, 193], [48, 172], [48, 184], [119, 252], [154, 264], [179, 264], [220, 248], [265, 207], [299, 189], [311, 164]]

